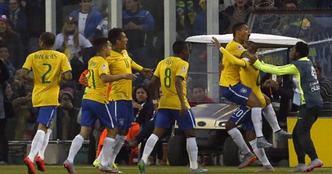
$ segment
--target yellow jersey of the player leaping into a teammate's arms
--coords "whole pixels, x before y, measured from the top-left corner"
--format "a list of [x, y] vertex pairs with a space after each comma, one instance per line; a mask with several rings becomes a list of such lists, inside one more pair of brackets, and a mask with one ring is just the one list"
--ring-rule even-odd
[[[226, 46], [226, 51], [235, 56], [238, 59], [241, 59], [241, 56], [247, 50], [243, 46], [236, 42], [235, 40], [230, 41]], [[222, 59], [222, 64], [224, 65], [224, 70], [221, 72], [219, 86], [229, 87], [234, 86], [240, 82], [240, 66], [235, 65], [231, 62], [231, 59], [224, 55]]]

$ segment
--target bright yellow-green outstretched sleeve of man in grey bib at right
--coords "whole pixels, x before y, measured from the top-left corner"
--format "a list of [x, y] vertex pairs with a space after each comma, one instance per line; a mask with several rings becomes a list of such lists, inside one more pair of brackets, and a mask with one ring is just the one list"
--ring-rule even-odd
[[261, 63], [260, 61], [256, 61], [253, 65], [256, 69], [261, 70], [265, 73], [276, 74], [278, 76], [290, 74], [290, 75], [298, 75], [300, 74], [299, 70], [293, 64], [288, 64], [284, 66], [271, 66], [269, 64]]

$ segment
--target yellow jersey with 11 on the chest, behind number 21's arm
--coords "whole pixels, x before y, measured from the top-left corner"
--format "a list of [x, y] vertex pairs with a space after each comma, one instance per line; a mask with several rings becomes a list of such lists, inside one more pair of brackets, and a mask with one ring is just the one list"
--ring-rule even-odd
[[[142, 71], [143, 67], [136, 64], [128, 55], [126, 50], [121, 53], [111, 50], [111, 56], [106, 58], [110, 74], [113, 76], [132, 73], [132, 68]], [[112, 82], [112, 90], [110, 92], [109, 100], [132, 100], [132, 80], [121, 79]]]

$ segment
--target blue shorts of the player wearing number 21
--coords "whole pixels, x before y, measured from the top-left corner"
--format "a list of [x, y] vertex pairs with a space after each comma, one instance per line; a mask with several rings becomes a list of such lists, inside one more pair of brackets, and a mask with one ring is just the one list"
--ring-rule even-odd
[[81, 126], [93, 126], [97, 118], [102, 126], [108, 128], [116, 127], [115, 116], [110, 112], [110, 104], [83, 99]]

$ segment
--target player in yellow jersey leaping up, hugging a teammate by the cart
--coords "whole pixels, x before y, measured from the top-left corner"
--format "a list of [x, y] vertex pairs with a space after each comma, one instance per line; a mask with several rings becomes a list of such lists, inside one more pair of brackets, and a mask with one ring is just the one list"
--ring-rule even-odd
[[[242, 46], [245, 41], [249, 40], [250, 30], [245, 22], [234, 24], [232, 30], [234, 39], [227, 44], [226, 49], [222, 48], [231, 55], [226, 54], [223, 56], [222, 64], [225, 68], [221, 72], [219, 86], [226, 99], [251, 108], [251, 118], [257, 135], [257, 146], [270, 148], [272, 144], [265, 140], [262, 132], [262, 103], [251, 91], [250, 87], [246, 87], [240, 83], [240, 67], [244, 68], [247, 66], [247, 62], [241, 60], [241, 58], [254, 57]], [[215, 43], [215, 40], [212, 42]], [[220, 47], [218, 47], [218, 49], [219, 48]], [[220, 51], [222, 52], [221, 49]], [[233, 56], [237, 59], [234, 59]]]

